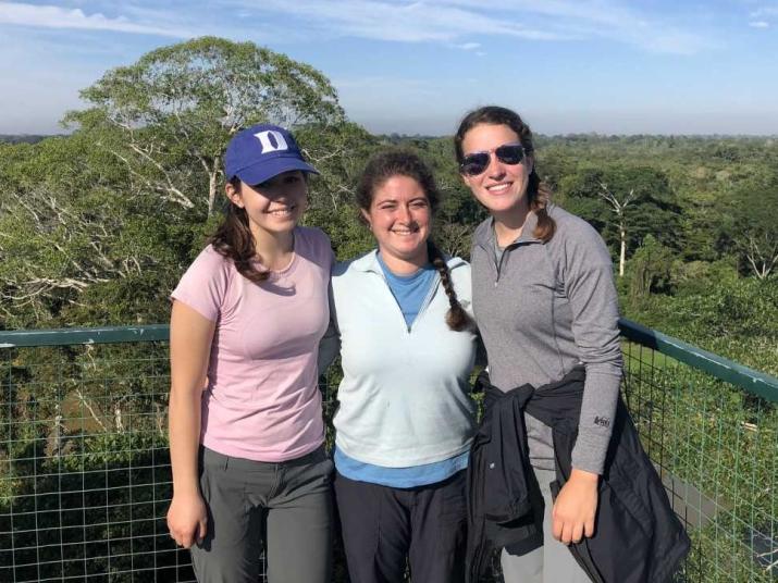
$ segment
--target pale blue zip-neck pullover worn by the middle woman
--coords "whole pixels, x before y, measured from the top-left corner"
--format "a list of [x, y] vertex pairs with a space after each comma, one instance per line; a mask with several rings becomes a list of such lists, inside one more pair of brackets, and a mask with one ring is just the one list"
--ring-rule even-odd
[[[459, 258], [447, 264], [460, 303], [472, 313], [470, 265]], [[333, 326], [320, 360], [332, 360], [339, 339], [337, 447], [385, 468], [432, 463], [468, 450], [476, 429], [469, 377], [477, 335], [448, 328], [440, 276], [410, 327], [376, 251], [335, 265], [331, 300]]]

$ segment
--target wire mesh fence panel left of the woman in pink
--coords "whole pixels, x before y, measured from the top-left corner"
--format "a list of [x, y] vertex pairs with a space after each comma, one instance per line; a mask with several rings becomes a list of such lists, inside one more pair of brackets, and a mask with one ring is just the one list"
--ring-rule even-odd
[[3, 357], [0, 581], [195, 581], [163, 519], [166, 345]]

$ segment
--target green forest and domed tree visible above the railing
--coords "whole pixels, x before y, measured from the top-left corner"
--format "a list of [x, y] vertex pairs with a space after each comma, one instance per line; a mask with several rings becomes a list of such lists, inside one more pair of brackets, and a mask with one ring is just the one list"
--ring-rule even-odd
[[[294, 127], [321, 171], [305, 222], [338, 259], [373, 245], [351, 198], [381, 148], [435, 170], [447, 252], [467, 258], [485, 216], [449, 137], [371, 135], [321, 73], [252, 44], [157, 49], [82, 97], [70, 134], [0, 144], [0, 330], [166, 322], [168, 294], [220, 218], [224, 147], [260, 121]], [[534, 129], [554, 201], [612, 249], [622, 314], [778, 375], [778, 140]]]

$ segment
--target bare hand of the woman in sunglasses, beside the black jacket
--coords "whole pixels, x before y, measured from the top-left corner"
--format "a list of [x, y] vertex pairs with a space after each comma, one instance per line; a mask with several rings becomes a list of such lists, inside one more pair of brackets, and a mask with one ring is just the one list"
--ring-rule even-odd
[[594, 534], [598, 481], [595, 473], [572, 469], [552, 510], [554, 538], [569, 545]]

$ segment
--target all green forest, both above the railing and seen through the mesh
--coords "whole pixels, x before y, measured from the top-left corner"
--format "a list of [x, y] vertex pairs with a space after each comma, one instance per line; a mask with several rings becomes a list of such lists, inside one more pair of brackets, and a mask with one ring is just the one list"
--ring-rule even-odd
[[[374, 245], [353, 196], [381, 148], [411, 148], [434, 169], [444, 250], [467, 258], [485, 218], [449, 137], [371, 135], [321, 73], [252, 44], [157, 49], [82, 97], [89, 107], [66, 114], [66, 135], [0, 139], [0, 330], [168, 322], [169, 293], [220, 220], [224, 148], [257, 122], [293, 127], [321, 171], [305, 223], [330, 235], [338, 259]], [[778, 376], [778, 140], [534, 129], [554, 201], [612, 250], [622, 314]], [[707, 516], [690, 511], [700, 523], [679, 581], [774, 581], [778, 409], [625, 348], [652, 459], [689, 500], [713, 504]], [[166, 346], [5, 356], [0, 514], [14, 526], [0, 528], [0, 579], [192, 580], [158, 526], [170, 498]], [[336, 571], [345, 581], [343, 561]]]

